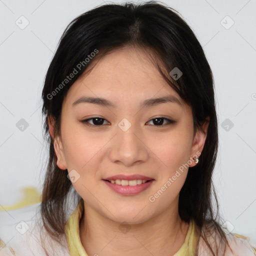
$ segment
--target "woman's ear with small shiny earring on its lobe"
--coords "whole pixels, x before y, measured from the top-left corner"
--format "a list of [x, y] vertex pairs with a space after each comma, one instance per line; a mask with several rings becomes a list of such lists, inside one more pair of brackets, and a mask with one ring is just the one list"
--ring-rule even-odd
[[[202, 152], [202, 149], [203, 149], [203, 146], [205, 143], [205, 139], [207, 136], [208, 125], [209, 125], [209, 116], [206, 117], [206, 120], [202, 125], [202, 129], [203, 129], [204, 133], [201, 130], [197, 130], [194, 135], [193, 144], [192, 144], [192, 148], [191, 148], [192, 156], [190, 157], [190, 159], [192, 160], [192, 163], [189, 164], [189, 167], [193, 167], [194, 165], [196, 165], [194, 160], [196, 158], [199, 158], [199, 156]], [[194, 160], [193, 160], [193, 157], [194, 157]]]

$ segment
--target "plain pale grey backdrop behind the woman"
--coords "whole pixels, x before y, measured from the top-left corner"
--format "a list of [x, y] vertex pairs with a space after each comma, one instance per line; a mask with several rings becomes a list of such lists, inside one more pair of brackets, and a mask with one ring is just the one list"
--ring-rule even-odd
[[[213, 71], [220, 143], [214, 185], [220, 213], [233, 232], [256, 241], [256, 1], [162, 2], [191, 26]], [[40, 99], [44, 76], [66, 25], [102, 3], [0, 0], [0, 206], [21, 200], [24, 186], [41, 189], [47, 159]], [[21, 118], [28, 123], [23, 131], [16, 126]]]

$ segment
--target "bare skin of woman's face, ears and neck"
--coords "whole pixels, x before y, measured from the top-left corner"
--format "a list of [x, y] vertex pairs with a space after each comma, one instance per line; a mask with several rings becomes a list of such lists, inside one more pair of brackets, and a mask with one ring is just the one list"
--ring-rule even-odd
[[[151, 97], [175, 95], [182, 103], [139, 107]], [[117, 108], [72, 103], [81, 96], [104, 97]], [[81, 120], [99, 116], [104, 123], [86, 126]], [[176, 120], [157, 125], [153, 118]], [[118, 123], [131, 126], [123, 131]], [[166, 124], [165, 124], [166, 123]], [[49, 118], [53, 137], [54, 120]], [[161, 126], [160, 126], [161, 125]], [[208, 122], [203, 129], [206, 132]], [[179, 166], [201, 152], [206, 134], [193, 136], [191, 108], [167, 84], [140, 49], [124, 47], [105, 55], [70, 87], [62, 104], [61, 136], [54, 140], [57, 165], [80, 177], [72, 183], [84, 200], [80, 239], [88, 255], [173, 255], [184, 242], [188, 223], [178, 214], [178, 195], [188, 168], [155, 199], [149, 201]], [[199, 157], [198, 157], [199, 158]], [[195, 165], [192, 160], [189, 167]], [[190, 170], [191, 171], [191, 170]], [[142, 174], [155, 180], [137, 195], [120, 195], [102, 178], [115, 174]], [[128, 227], [123, 233], [119, 226]]]

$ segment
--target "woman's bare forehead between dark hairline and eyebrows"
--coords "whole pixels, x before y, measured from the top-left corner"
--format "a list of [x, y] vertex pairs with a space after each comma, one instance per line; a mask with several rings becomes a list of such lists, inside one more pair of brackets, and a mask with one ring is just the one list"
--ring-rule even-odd
[[141, 102], [142, 99], [178, 93], [170, 87], [148, 55], [137, 48], [125, 47], [104, 55], [69, 88], [68, 104], [81, 96]]

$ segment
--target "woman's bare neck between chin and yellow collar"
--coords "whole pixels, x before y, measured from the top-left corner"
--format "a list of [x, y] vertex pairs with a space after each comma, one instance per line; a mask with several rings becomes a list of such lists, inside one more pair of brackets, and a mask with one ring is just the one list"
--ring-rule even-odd
[[[189, 223], [178, 211], [167, 209], [139, 224], [122, 224], [105, 218], [84, 203], [80, 239], [88, 255], [174, 255], [184, 243]], [[121, 231], [120, 231], [121, 230]]]

